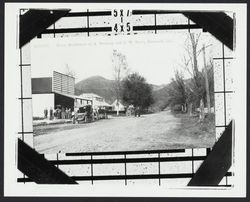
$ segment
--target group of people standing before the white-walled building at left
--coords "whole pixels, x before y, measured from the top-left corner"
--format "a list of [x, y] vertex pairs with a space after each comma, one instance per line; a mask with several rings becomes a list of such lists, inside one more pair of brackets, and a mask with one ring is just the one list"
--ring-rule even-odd
[[53, 120], [56, 119], [71, 119], [72, 118], [72, 110], [71, 108], [64, 108], [64, 107], [57, 107], [55, 110], [50, 108], [48, 110], [47, 108], [44, 109], [44, 118]]

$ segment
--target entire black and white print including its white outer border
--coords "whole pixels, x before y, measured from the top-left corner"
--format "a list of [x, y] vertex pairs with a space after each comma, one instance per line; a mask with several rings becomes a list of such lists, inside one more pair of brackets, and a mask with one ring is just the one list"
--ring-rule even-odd
[[150, 187], [158, 191], [146, 196], [244, 195], [245, 123], [235, 103], [245, 7], [166, 5], [6, 6], [15, 22], [6, 109], [18, 112], [7, 122], [5, 169], [15, 173], [6, 186], [28, 186], [21, 195], [53, 195], [51, 184], [65, 186], [62, 195], [78, 186], [90, 192], [75, 195], [112, 196], [102, 192], [109, 187], [118, 196]]

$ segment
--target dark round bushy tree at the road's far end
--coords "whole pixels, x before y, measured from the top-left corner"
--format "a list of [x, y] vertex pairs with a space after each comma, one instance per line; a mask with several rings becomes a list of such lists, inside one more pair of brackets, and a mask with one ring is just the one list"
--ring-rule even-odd
[[152, 87], [138, 73], [129, 74], [123, 80], [122, 99], [128, 105], [146, 109], [153, 103]]

